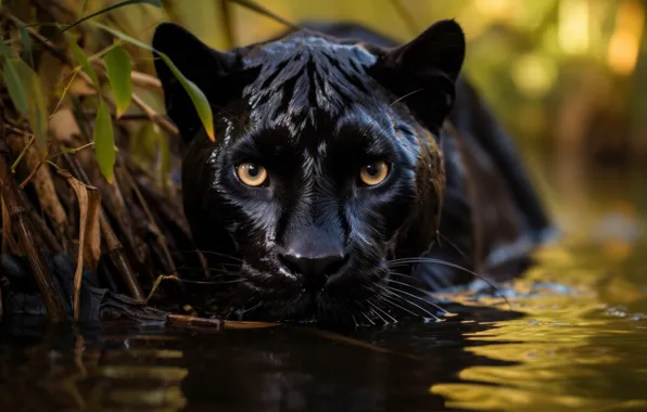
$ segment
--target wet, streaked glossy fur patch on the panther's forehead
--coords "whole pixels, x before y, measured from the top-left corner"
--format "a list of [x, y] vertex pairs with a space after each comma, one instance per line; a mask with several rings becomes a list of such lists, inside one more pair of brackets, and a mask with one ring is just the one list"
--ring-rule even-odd
[[361, 112], [378, 110], [379, 88], [367, 74], [375, 62], [361, 44], [307, 31], [261, 44], [244, 62], [259, 67], [257, 78], [243, 90], [250, 120], [299, 133], [320, 126], [317, 121], [357, 111], [359, 103]]

